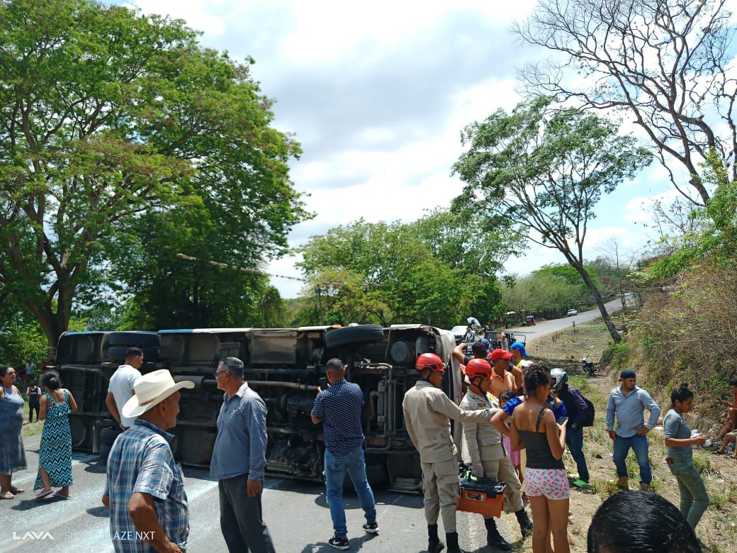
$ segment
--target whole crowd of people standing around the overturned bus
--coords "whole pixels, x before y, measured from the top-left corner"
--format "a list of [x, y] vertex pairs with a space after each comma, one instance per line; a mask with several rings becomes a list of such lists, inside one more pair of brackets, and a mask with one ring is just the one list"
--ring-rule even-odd
[[[461, 448], [474, 478], [506, 484], [504, 510], [514, 513], [523, 538], [532, 535], [533, 551], [565, 553], [570, 550], [570, 481], [576, 487], [590, 485], [583, 428], [593, 424], [593, 404], [570, 386], [564, 370], [548, 370], [528, 361], [524, 344], [503, 344], [490, 351], [489, 342], [482, 340], [473, 345], [470, 356], [465, 354], [465, 345], [453, 352], [464, 374], [460, 405], [442, 391], [447, 367], [434, 353], [419, 355], [415, 367], [419, 379], [402, 401], [405, 427], [419, 453], [427, 551], [462, 551], [456, 525]], [[109, 509], [111, 540], [117, 552], [184, 552], [189, 512], [184, 476], [172, 454], [173, 435], [168, 431], [176, 424], [179, 390], [192, 389], [195, 384], [189, 380], [175, 383], [166, 369], [142, 375], [139, 369], [143, 362], [141, 349], [128, 349], [125, 364], [110, 379], [106, 403], [122, 432], [108, 457], [102, 503]], [[223, 359], [214, 376], [223, 392], [223, 405], [217, 417], [210, 470], [218, 482], [223, 538], [230, 552], [273, 552], [261, 504], [268, 442], [265, 403], [245, 381], [240, 359]], [[312, 422], [322, 425], [324, 435], [326, 498], [333, 524], [328, 543], [335, 549], [350, 547], [343, 504], [346, 475], [366, 518], [363, 532], [379, 531], [363, 453], [363, 392], [345, 376], [346, 367], [339, 359], [327, 362], [326, 388], [318, 389], [311, 414]], [[22, 439], [24, 398], [14, 384], [17, 377], [12, 367], [0, 369], [0, 484], [4, 499], [23, 493], [13, 486], [12, 476], [27, 468]], [[594, 515], [587, 535], [588, 550], [700, 551], [694, 529], [710, 500], [693, 462], [693, 446], [704, 445], [706, 438], [692, 433], [684, 417], [691, 411], [694, 394], [685, 383], [674, 389], [671, 408], [663, 418], [666, 462], [680, 492], [680, 508], [676, 509], [651, 488], [647, 434], [660, 419], [660, 407], [637, 386], [634, 371], [626, 369], [619, 377], [619, 385], [607, 400], [606, 422], [617, 486], [622, 491], [604, 501]], [[32, 379], [28, 384], [29, 401], [33, 398], [38, 403], [37, 417], [44, 421], [36, 497], [68, 499], [72, 485], [69, 413], [77, 408], [76, 402], [53, 370], [41, 375], [41, 388]], [[730, 382], [730, 387], [736, 396], [734, 402], [724, 401], [729, 408], [724, 438], [736, 432], [732, 419], [737, 412], [737, 382]], [[645, 411], [649, 411], [647, 420]], [[453, 439], [451, 420], [462, 425], [462, 443]], [[566, 448], [578, 470], [571, 477], [562, 461]], [[626, 456], [630, 449], [638, 460], [637, 493], [629, 492]], [[525, 512], [525, 501], [529, 502], [531, 519]], [[638, 517], [637, 512], [648, 512], [649, 516]], [[439, 518], [444, 539], [439, 534]], [[623, 541], [619, 530], [632, 520], [640, 521], [638, 529]], [[495, 518], [484, 516], [483, 522], [492, 549], [512, 549], [497, 529]], [[632, 526], [628, 528], [632, 530]], [[667, 547], [663, 546], [665, 528]]]

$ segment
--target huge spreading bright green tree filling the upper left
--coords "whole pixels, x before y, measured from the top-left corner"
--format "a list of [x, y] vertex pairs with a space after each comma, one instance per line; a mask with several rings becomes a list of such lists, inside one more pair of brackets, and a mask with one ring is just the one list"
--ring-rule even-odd
[[91, 0], [0, 3], [0, 284], [49, 344], [125, 284], [157, 219], [196, 215], [220, 260], [255, 266], [306, 216], [253, 60], [197, 37]]

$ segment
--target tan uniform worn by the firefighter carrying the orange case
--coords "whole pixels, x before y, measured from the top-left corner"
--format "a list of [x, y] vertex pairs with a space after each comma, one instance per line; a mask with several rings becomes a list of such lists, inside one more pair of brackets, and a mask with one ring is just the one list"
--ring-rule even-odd
[[[469, 411], [492, 408], [492, 411], [498, 411], [497, 408], [493, 408], [488, 397], [475, 394], [471, 389], [461, 400], [461, 408]], [[476, 424], [475, 422], [464, 422], [463, 432], [472, 464], [481, 465], [486, 478], [495, 479], [507, 485], [504, 491], [504, 510], [517, 512], [522, 509], [524, 507], [522, 493], [520, 493], [522, 485], [502, 444], [501, 432], [494, 425]]]

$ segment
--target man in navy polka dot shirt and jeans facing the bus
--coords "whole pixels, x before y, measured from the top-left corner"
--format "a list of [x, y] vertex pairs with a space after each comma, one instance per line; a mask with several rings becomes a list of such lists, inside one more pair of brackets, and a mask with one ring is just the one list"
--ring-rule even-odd
[[366, 532], [377, 533], [374, 493], [366, 480], [366, 460], [363, 457], [361, 406], [363, 392], [357, 384], [346, 381], [343, 361], [327, 362], [325, 375], [328, 389], [318, 392], [312, 408], [312, 422], [323, 425], [325, 440], [325, 485], [330, 516], [335, 535], [328, 541], [335, 549], [349, 549], [346, 527], [346, 507], [343, 504], [343, 480], [346, 472], [366, 515]]

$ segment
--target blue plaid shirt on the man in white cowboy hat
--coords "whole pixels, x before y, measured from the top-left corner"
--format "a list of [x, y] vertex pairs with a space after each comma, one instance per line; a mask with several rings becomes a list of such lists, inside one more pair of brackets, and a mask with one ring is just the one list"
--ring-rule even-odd
[[173, 434], [137, 419], [111, 448], [105, 495], [110, 499], [110, 538], [116, 552], [154, 551], [128, 515], [128, 501], [136, 492], [153, 497], [156, 517], [169, 540], [186, 548], [189, 508], [181, 465], [169, 445], [172, 439]]

